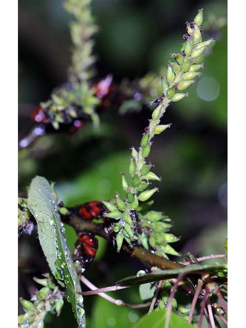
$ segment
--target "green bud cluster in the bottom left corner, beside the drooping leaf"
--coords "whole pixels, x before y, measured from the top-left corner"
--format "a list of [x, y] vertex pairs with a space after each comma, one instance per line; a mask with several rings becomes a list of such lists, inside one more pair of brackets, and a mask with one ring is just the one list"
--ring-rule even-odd
[[55, 311], [57, 316], [60, 315], [64, 304], [64, 293], [59, 291], [49, 274], [44, 274], [44, 277], [43, 279], [33, 278], [43, 288], [36, 291], [31, 301], [20, 298], [25, 314], [18, 316], [19, 328], [29, 326], [42, 328], [44, 327], [44, 319], [48, 312], [54, 313]]

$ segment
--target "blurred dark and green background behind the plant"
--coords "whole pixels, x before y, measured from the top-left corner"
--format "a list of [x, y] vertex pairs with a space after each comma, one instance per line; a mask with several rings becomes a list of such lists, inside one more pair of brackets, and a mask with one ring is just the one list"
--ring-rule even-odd
[[[71, 50], [68, 22], [72, 17], [60, 1], [18, 4], [19, 130], [23, 133], [29, 129], [32, 109], [66, 81]], [[221, 23], [227, 17], [227, 2], [92, 3], [99, 26], [94, 47], [96, 77], [112, 73], [118, 82], [150, 71], [158, 73], [168, 54], [179, 50], [185, 22], [201, 7], [204, 25], [210, 26], [217, 42], [204, 59], [203, 76], [190, 88], [189, 98], [171, 104], [163, 117], [164, 124], [173, 125], [155, 138], [150, 160], [162, 177], [154, 209], [165, 211], [175, 223], [173, 233], [182, 236], [174, 247], [182, 253], [209, 255], [223, 253], [227, 234], [227, 26]], [[31, 178], [38, 174], [56, 181], [59, 199], [67, 206], [113, 197], [121, 190], [120, 172], [128, 170], [129, 148], [138, 146], [150, 115], [148, 109], [125, 116], [107, 110], [101, 115], [98, 131], [87, 125], [73, 137], [40, 138], [34, 147], [19, 153], [20, 192], [25, 193]], [[72, 248], [75, 236], [69, 227], [67, 237]], [[86, 275], [98, 286], [113, 284], [141, 269], [136, 260], [116, 254], [104, 240], [99, 244], [97, 259]], [[19, 252], [19, 293], [28, 298], [35, 291], [31, 277], [47, 271], [35, 233], [20, 238]], [[116, 295], [138, 301], [137, 289]], [[96, 296], [87, 297], [85, 303], [87, 321], [93, 328], [120, 327], [120, 322], [128, 327], [140, 314], [116, 308]], [[75, 326], [69, 310], [60, 319], [47, 320], [47, 327]]]

